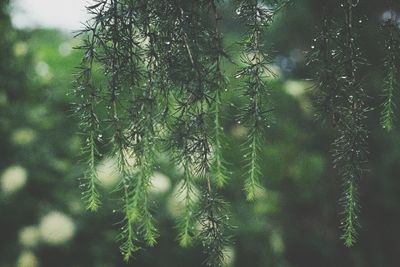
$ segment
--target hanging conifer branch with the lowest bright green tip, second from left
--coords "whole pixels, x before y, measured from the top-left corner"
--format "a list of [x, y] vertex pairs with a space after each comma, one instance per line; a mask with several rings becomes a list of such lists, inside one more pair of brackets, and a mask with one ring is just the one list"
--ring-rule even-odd
[[[110, 6], [108, 9], [110, 19], [108, 22], [109, 25], [106, 25], [105, 30], [105, 40], [107, 37], [109, 38], [110, 45], [105, 47], [105, 57], [106, 61], [106, 75], [109, 77], [109, 101], [111, 112], [109, 113], [110, 117], [110, 127], [113, 129], [112, 134], [112, 144], [114, 145], [114, 154], [117, 155], [118, 159], [118, 169], [122, 175], [122, 180], [119, 185], [119, 191], [123, 192], [123, 203], [122, 203], [122, 213], [124, 216], [122, 227], [121, 227], [121, 252], [125, 261], [128, 261], [130, 257], [132, 257], [133, 253], [138, 249], [138, 247], [134, 244], [136, 241], [136, 231], [134, 229], [135, 223], [138, 221], [138, 205], [139, 202], [138, 196], [132, 191], [137, 188], [137, 184], [134, 183], [133, 180], [133, 166], [128, 162], [129, 156], [129, 140], [126, 137], [124, 130], [127, 125], [124, 119], [120, 119], [119, 109], [121, 109], [121, 102], [119, 101], [119, 97], [123, 94], [125, 87], [123, 86], [122, 77], [125, 71], [124, 68], [124, 60], [125, 55], [121, 54], [121, 46], [124, 43], [121, 41], [120, 34], [124, 32], [125, 25], [122, 20], [121, 13], [125, 11], [123, 5], [120, 5], [118, 1], [111, 0]], [[128, 10], [133, 8], [133, 6], [129, 5]], [[129, 27], [131, 27], [129, 25]], [[130, 43], [130, 42], [129, 42]], [[132, 45], [132, 44], [129, 44]], [[129, 57], [128, 57], [129, 59]], [[129, 62], [134, 64], [136, 62]], [[135, 73], [137, 74], [137, 73]], [[126, 110], [122, 109], [122, 112], [126, 112]], [[123, 114], [123, 116], [127, 116], [127, 114]]]

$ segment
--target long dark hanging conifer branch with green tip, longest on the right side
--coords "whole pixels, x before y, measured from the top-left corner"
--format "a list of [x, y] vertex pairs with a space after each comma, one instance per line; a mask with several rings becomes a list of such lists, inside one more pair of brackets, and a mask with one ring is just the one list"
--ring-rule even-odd
[[343, 177], [343, 228], [342, 239], [346, 246], [352, 246], [357, 238], [358, 228], [358, 181], [364, 173], [368, 132], [365, 128], [367, 108], [366, 94], [359, 82], [359, 67], [364, 64], [356, 44], [353, 9], [358, 1], [348, 0], [344, 4], [345, 25], [343, 27], [343, 115], [339, 119], [339, 137], [335, 140], [335, 164]]

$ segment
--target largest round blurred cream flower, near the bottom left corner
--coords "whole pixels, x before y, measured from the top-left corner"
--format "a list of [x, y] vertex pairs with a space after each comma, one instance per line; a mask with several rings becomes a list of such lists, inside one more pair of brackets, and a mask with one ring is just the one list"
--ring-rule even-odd
[[75, 234], [75, 224], [67, 215], [53, 211], [42, 217], [39, 231], [44, 242], [60, 245], [68, 242]]

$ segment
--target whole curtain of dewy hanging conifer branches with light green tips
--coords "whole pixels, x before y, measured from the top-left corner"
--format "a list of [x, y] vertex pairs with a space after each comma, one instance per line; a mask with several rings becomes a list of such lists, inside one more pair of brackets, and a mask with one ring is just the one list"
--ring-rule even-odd
[[[269, 128], [273, 103], [269, 100], [271, 44], [265, 35], [288, 0], [235, 1], [244, 30], [240, 63], [235, 78], [243, 96], [238, 113], [249, 134], [245, 143], [247, 175], [244, 190], [254, 200], [262, 190], [260, 149]], [[97, 210], [96, 162], [99, 151], [118, 158], [123, 178], [121, 195], [121, 251], [125, 260], [140, 248], [157, 242], [158, 232], [149, 200], [151, 175], [157, 155], [166, 153], [183, 169], [180, 193], [185, 210], [177, 222], [183, 246], [202, 241], [209, 265], [223, 261], [229, 242], [225, 204], [218, 191], [229, 183], [222, 147], [223, 94], [229, 88], [224, 63], [232, 61], [225, 50], [219, 7], [223, 1], [97, 0], [88, 7], [93, 19], [81, 31], [84, 50], [77, 79], [77, 114], [86, 136], [84, 198]], [[326, 5], [321, 33], [310, 56], [317, 88], [317, 115], [335, 128], [334, 165], [343, 178], [342, 239], [352, 246], [358, 228], [358, 182], [365, 172], [367, 94], [361, 69], [365, 60], [358, 48], [362, 20], [354, 12], [359, 1]], [[391, 27], [390, 27], [390, 25]], [[388, 100], [382, 124], [391, 129], [397, 85], [398, 29], [388, 22]], [[235, 89], [236, 90], [236, 89]], [[103, 137], [104, 136], [104, 137]], [[201, 192], [201, 193], [198, 193]], [[199, 201], [200, 199], [200, 201]]]

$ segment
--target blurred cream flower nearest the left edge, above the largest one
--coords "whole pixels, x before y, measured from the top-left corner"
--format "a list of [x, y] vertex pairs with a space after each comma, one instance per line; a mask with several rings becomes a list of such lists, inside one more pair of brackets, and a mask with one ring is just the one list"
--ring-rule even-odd
[[8, 167], [1, 176], [1, 189], [6, 194], [20, 190], [26, 184], [27, 172], [21, 166]]

